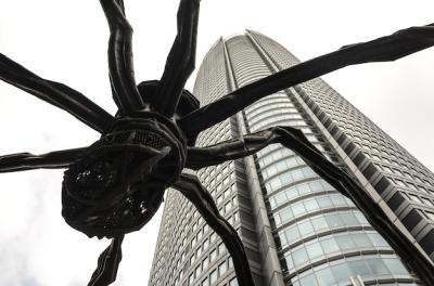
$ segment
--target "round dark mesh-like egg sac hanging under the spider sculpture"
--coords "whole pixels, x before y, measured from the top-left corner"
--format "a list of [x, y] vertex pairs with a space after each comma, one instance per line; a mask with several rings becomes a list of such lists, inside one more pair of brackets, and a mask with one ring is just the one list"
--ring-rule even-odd
[[167, 167], [176, 165], [169, 144], [161, 139], [151, 147], [150, 136], [140, 130], [105, 135], [65, 171], [62, 216], [71, 226], [90, 237], [114, 237], [154, 216], [177, 176]]

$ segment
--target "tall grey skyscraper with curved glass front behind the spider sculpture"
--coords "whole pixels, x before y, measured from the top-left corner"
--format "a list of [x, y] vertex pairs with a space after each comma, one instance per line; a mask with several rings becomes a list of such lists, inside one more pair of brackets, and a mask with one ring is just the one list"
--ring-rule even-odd
[[[194, 94], [207, 104], [297, 63], [258, 32], [221, 38], [201, 65]], [[212, 145], [272, 126], [299, 128], [434, 258], [433, 173], [321, 79], [264, 98], [197, 142]], [[349, 199], [281, 145], [197, 176], [240, 234], [257, 285], [419, 282]], [[176, 191], [167, 195], [149, 285], [237, 285], [221, 240]]]

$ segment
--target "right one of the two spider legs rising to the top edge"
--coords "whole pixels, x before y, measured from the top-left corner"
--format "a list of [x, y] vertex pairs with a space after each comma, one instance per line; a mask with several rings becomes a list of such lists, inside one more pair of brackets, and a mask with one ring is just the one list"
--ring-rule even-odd
[[200, 0], [181, 0], [178, 35], [167, 57], [157, 91], [158, 112], [173, 116], [187, 80], [194, 70]]

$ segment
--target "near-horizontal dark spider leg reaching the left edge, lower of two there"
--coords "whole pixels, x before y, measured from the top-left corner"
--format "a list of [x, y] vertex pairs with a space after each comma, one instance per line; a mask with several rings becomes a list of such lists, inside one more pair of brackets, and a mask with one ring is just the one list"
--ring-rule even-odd
[[88, 148], [54, 151], [42, 155], [17, 153], [0, 156], [0, 173], [16, 172], [31, 169], [67, 168], [76, 161]]

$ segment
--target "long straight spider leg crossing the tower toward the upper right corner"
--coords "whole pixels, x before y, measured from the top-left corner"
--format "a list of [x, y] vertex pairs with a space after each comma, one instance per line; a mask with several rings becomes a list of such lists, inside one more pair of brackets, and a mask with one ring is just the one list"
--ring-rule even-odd
[[395, 61], [434, 46], [434, 24], [399, 30], [376, 40], [345, 46], [246, 84], [179, 120], [189, 134], [197, 134], [257, 100], [348, 65]]

